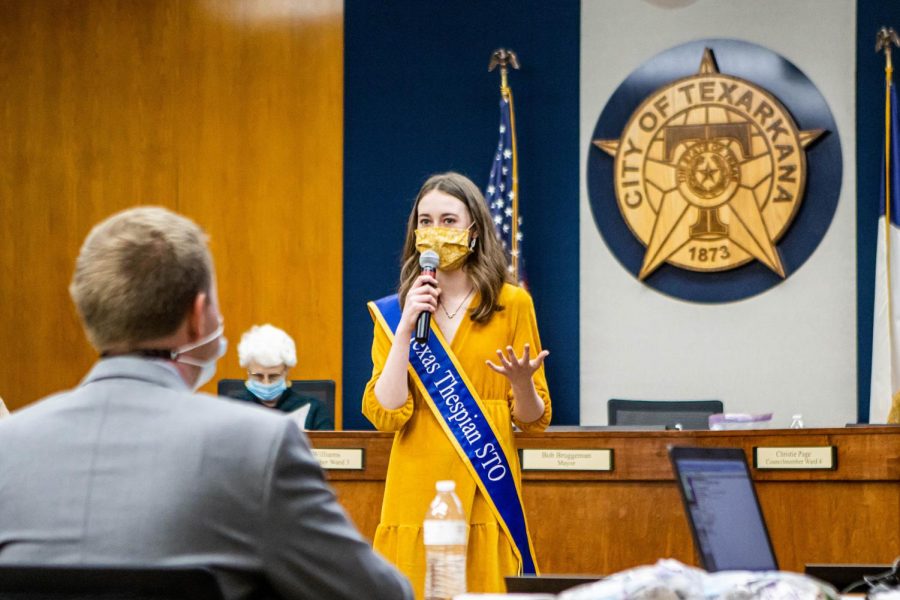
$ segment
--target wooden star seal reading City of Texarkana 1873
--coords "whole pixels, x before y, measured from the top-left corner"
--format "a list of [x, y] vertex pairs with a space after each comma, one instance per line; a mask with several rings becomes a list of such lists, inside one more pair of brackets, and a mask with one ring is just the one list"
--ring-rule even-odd
[[784, 278], [777, 243], [823, 133], [801, 131], [767, 90], [720, 73], [706, 48], [698, 72], [651, 93], [618, 139], [593, 140], [615, 160], [619, 211], [646, 247], [638, 278], [664, 263], [712, 272], [753, 260]]

